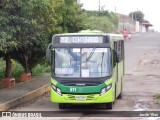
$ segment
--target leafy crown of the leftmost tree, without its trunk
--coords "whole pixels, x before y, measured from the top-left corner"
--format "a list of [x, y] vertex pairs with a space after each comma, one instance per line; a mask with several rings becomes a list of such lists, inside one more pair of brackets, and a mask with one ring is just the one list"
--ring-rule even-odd
[[9, 16], [10, 11], [7, 11], [7, 2], [0, 1], [0, 52], [4, 53], [10, 52], [18, 44], [14, 37], [15, 27], [10, 22], [12, 16]]

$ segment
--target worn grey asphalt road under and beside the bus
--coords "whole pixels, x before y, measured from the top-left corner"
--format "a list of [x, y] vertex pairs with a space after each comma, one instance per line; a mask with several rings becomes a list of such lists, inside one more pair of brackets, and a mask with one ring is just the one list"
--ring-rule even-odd
[[[126, 82], [122, 99], [118, 99], [112, 111], [148, 111], [160, 110], [154, 95], [160, 93], [160, 33], [136, 33], [131, 40], [125, 41]], [[73, 110], [105, 110], [103, 105], [76, 105], [65, 111]], [[12, 109], [13, 111], [62, 111], [58, 105], [50, 102], [50, 95]], [[73, 113], [66, 119], [97, 119], [94, 114]], [[62, 113], [60, 116], [67, 116]], [[74, 117], [76, 116], [76, 117]], [[78, 116], [78, 117], [77, 117]], [[50, 118], [55, 119], [55, 118]], [[64, 118], [56, 118], [64, 119]], [[104, 118], [101, 119], [135, 119], [138, 118]], [[143, 118], [139, 118], [143, 119]], [[144, 118], [148, 119], [148, 118]], [[17, 120], [17, 119], [16, 119]]]

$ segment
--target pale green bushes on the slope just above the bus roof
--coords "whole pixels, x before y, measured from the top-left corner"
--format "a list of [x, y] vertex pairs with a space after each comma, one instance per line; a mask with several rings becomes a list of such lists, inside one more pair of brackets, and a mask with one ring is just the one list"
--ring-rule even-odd
[[117, 14], [109, 11], [86, 11], [86, 23], [89, 29], [116, 33], [118, 28]]

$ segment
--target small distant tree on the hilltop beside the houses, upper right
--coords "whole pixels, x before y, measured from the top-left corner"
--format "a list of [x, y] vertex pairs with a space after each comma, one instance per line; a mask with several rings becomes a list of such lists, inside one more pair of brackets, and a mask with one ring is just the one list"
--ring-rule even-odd
[[137, 20], [139, 22], [143, 22], [144, 21], [144, 14], [142, 11], [134, 11], [129, 13], [129, 17], [133, 18], [134, 20]]

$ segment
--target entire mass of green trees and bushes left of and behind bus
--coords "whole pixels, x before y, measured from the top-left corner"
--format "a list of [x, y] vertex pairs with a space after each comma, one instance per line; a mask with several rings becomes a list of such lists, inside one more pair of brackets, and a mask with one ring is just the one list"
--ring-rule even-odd
[[84, 29], [116, 32], [115, 13], [81, 7], [76, 0], [0, 1], [0, 80], [49, 72], [44, 61], [53, 34]]

